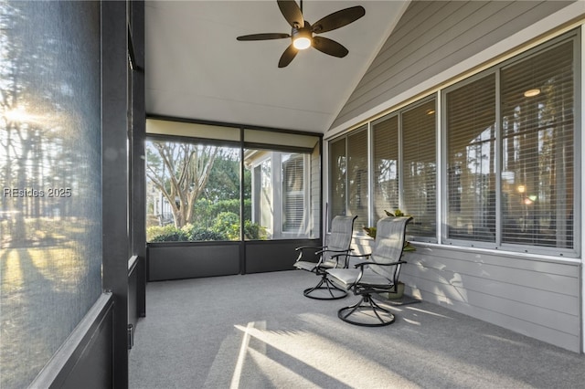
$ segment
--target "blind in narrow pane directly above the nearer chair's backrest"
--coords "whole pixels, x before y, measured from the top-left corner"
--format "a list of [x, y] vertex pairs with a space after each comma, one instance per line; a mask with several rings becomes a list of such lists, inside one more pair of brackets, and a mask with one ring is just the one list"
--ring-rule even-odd
[[374, 150], [374, 220], [399, 208], [399, 117], [393, 115], [372, 125]]

